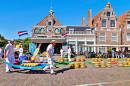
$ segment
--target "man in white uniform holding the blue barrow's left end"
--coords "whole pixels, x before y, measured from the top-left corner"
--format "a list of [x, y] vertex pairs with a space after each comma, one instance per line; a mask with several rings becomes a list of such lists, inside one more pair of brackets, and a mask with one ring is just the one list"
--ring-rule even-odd
[[[15, 62], [14, 58], [14, 40], [10, 40], [10, 43], [6, 45], [4, 50], [4, 58], [6, 62], [13, 64]], [[10, 73], [10, 66], [6, 64], [6, 73]]]

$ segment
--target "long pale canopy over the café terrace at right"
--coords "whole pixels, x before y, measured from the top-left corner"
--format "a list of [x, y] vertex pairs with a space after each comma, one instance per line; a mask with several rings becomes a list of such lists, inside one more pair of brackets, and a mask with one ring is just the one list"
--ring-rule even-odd
[[85, 45], [85, 44], [82, 44], [81, 47], [130, 47], [130, 45]]

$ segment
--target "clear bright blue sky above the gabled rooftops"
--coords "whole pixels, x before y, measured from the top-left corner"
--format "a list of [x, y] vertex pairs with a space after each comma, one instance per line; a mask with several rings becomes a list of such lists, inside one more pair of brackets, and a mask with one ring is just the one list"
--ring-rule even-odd
[[[130, 10], [130, 0], [109, 1], [117, 16]], [[27, 30], [31, 36], [32, 25], [49, 14], [51, 3], [54, 16], [62, 25], [82, 25], [83, 16], [87, 23], [89, 8], [94, 17], [108, 0], [0, 0], [0, 34], [6, 39], [18, 39], [17, 32]]]

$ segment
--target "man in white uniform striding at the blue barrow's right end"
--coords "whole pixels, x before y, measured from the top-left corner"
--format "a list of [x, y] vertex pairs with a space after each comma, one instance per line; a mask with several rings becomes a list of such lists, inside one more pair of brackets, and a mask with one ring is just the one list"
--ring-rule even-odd
[[47, 47], [47, 59], [48, 59], [48, 66], [46, 66], [45, 68], [43, 68], [43, 72], [45, 72], [45, 70], [47, 68], [50, 67], [51, 70], [51, 75], [55, 75], [54, 73], [54, 62], [53, 62], [53, 55], [54, 55], [54, 45], [56, 44], [55, 40], [52, 40], [51, 43], [48, 45]]

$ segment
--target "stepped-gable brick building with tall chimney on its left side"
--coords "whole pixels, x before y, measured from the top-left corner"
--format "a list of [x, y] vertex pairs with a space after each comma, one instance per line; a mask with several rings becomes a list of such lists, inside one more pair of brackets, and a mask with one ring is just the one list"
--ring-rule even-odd
[[[95, 29], [95, 38], [97, 45], [121, 45], [121, 28], [120, 21], [111, 7], [110, 2], [92, 18], [92, 10], [88, 11], [87, 26]], [[118, 51], [118, 48], [113, 48]], [[98, 47], [98, 51], [107, 52], [107, 48]]]

